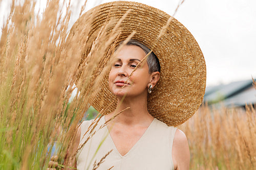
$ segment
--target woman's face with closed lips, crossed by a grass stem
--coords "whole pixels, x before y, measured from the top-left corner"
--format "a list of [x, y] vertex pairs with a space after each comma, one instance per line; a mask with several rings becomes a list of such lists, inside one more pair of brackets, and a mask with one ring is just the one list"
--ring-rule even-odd
[[147, 94], [147, 86], [151, 80], [148, 74], [147, 62], [141, 63], [133, 72], [134, 68], [146, 56], [142, 48], [136, 45], [125, 45], [117, 54], [109, 74], [110, 91], [117, 97], [137, 96]]

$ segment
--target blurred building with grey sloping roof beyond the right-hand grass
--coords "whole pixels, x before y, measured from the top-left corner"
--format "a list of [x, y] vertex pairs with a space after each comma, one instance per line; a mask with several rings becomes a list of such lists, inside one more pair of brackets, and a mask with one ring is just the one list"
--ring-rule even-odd
[[206, 87], [205, 102], [208, 105], [219, 105], [221, 103], [226, 107], [245, 107], [246, 104], [256, 106], [256, 89], [252, 80], [209, 86]]

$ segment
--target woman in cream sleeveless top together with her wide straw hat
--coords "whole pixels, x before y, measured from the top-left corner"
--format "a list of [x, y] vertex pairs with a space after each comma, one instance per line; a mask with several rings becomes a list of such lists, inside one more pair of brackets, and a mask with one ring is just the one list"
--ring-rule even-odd
[[[144, 4], [112, 2], [95, 9], [91, 35], [98, 35], [108, 20], [118, 23], [127, 10], [117, 41], [136, 33], [116, 52], [100, 87], [103, 100], [92, 102], [98, 110], [108, 106], [109, 114], [99, 120], [97, 132], [79, 150], [74, 164], [78, 169], [92, 169], [94, 162], [100, 162], [98, 169], [188, 169], [187, 139], [175, 126], [195, 113], [204, 95], [205, 62], [196, 40], [176, 19]], [[71, 33], [95, 9], [80, 17]], [[114, 106], [109, 106], [113, 100]], [[81, 124], [71, 152], [86, 141], [90, 124]]]

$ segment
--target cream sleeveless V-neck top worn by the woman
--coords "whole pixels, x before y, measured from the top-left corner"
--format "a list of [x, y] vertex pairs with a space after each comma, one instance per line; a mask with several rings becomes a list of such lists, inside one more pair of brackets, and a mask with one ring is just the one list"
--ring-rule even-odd
[[[81, 124], [80, 144], [86, 140], [87, 136], [83, 137], [83, 135], [91, 123], [92, 120], [89, 120]], [[104, 123], [105, 117], [103, 116], [96, 129]], [[97, 168], [98, 170], [106, 170], [112, 166], [114, 167], [111, 170], [174, 169], [172, 148], [176, 129], [168, 127], [155, 118], [133, 148], [122, 156], [117, 151], [108, 128], [105, 126], [89, 139], [77, 154], [77, 169], [91, 170], [95, 160], [99, 162], [112, 149], [113, 151], [106, 156], [104, 162]]]

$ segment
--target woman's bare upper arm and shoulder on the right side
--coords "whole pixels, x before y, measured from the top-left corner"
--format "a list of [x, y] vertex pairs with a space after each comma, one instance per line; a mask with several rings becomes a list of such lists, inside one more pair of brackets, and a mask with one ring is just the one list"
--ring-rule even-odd
[[186, 135], [179, 129], [176, 130], [172, 150], [174, 167], [176, 170], [189, 169], [189, 148]]

